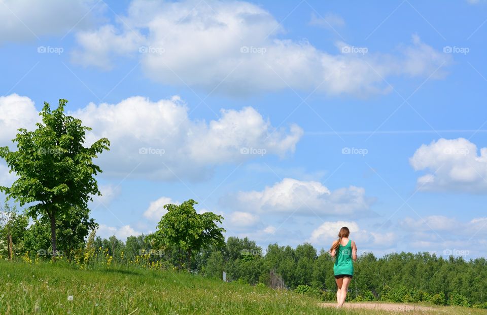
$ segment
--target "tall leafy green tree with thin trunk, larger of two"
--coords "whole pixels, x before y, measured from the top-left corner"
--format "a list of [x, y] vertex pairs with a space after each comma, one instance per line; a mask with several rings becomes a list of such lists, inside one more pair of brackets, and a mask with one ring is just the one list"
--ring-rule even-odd
[[94, 176], [101, 173], [92, 160], [110, 142], [102, 138], [90, 147], [84, 147], [86, 131], [91, 128], [81, 125], [79, 119], [64, 114], [67, 100], [60, 99], [56, 110], [48, 103], [40, 112], [42, 123], [37, 129], [19, 129], [17, 151], [0, 147], [0, 157], [5, 159], [10, 172], [18, 179], [11, 187], [0, 187], [8, 198], [23, 206], [36, 203], [27, 209], [27, 214], [36, 218], [47, 216], [51, 226], [51, 246], [56, 255], [56, 220], [69, 215], [72, 207], [88, 209], [91, 195], [100, 195]]

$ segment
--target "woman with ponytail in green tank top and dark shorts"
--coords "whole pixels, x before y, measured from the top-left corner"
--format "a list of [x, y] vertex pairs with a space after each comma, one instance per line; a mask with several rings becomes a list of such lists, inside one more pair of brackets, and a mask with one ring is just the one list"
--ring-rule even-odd
[[330, 254], [335, 257], [333, 273], [338, 287], [336, 291], [337, 307], [342, 307], [346, 299], [346, 291], [349, 289], [350, 282], [354, 276], [354, 264], [357, 260], [357, 245], [349, 239], [350, 230], [343, 226], [338, 233], [338, 240], [333, 242]]

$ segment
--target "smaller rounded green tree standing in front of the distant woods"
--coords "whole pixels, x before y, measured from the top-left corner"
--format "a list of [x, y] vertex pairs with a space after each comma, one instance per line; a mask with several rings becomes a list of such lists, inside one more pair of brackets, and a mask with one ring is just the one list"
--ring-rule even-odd
[[[225, 243], [222, 234], [225, 229], [217, 225], [217, 222], [222, 223], [223, 217], [213, 212], [198, 214], [194, 209], [195, 204], [190, 199], [181, 205], [165, 205], [167, 213], [157, 225], [158, 230], [151, 235], [153, 241], [163, 246], [175, 246], [180, 252], [186, 252], [188, 269], [194, 252], [210, 245], [223, 247]], [[181, 269], [181, 254], [178, 259]]]

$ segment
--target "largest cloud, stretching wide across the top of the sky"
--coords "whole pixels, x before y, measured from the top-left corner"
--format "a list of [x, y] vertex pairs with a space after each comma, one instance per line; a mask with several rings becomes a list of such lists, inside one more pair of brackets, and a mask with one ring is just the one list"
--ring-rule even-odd
[[[137, 56], [156, 82], [231, 95], [289, 87], [366, 95], [389, 91], [389, 76], [442, 76], [435, 71], [451, 58], [416, 35], [397, 55], [342, 42], [335, 52], [322, 51], [307, 41], [282, 39], [279, 22], [248, 2], [133, 0], [122, 19], [77, 33], [73, 61], [109, 69], [115, 56]], [[327, 26], [343, 24], [336, 16], [328, 19]]]

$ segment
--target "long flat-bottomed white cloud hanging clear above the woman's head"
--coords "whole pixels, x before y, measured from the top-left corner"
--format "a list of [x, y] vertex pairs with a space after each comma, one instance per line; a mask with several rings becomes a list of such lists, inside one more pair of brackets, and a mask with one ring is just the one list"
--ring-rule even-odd
[[361, 187], [330, 191], [320, 182], [293, 178], [284, 178], [261, 191], [240, 191], [236, 197], [245, 209], [265, 213], [350, 215], [369, 210], [373, 202]]

